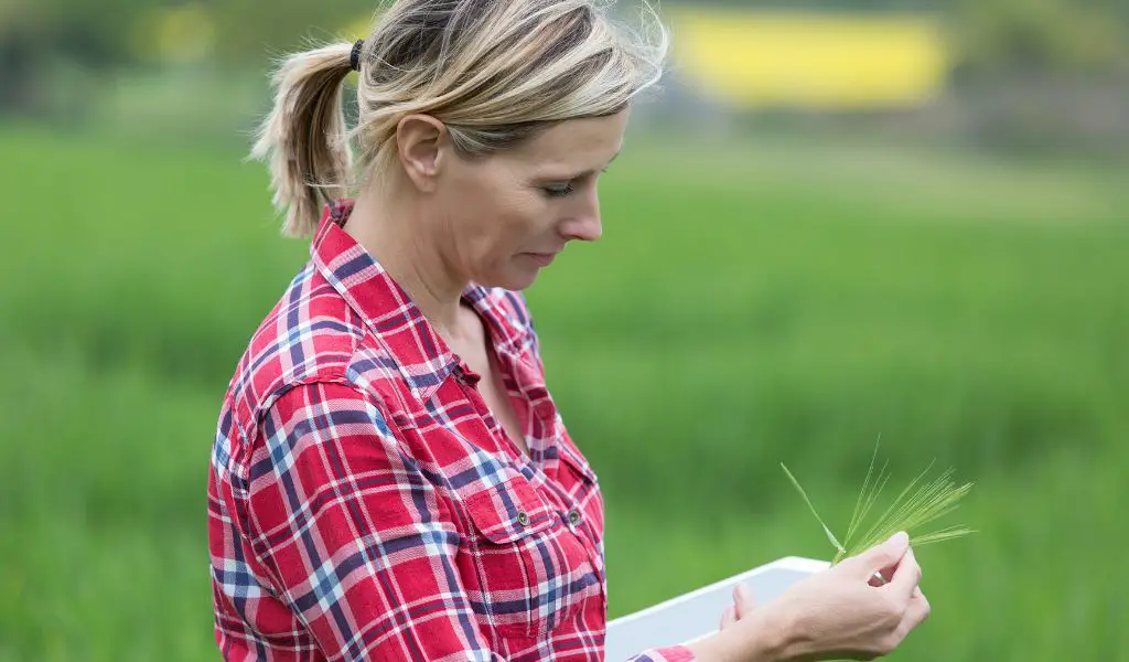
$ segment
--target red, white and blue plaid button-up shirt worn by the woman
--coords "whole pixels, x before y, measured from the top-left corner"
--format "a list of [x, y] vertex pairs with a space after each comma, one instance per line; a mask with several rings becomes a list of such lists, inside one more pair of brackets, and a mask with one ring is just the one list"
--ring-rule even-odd
[[[251, 339], [209, 472], [227, 661], [602, 660], [604, 509], [523, 298], [471, 286], [530, 455], [329, 207]], [[676, 646], [636, 660], [691, 660]]]

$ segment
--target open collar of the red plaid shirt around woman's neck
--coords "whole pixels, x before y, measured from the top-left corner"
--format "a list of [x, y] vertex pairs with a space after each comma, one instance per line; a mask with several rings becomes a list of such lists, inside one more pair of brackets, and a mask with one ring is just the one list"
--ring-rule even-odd
[[[412, 393], [426, 401], [458, 366], [458, 357], [400, 285], [344, 230], [352, 207], [351, 200], [325, 207], [310, 243], [314, 265], [373, 330]], [[480, 285], [470, 284], [463, 298], [487, 323], [495, 350], [505, 359], [524, 360], [525, 325]]]

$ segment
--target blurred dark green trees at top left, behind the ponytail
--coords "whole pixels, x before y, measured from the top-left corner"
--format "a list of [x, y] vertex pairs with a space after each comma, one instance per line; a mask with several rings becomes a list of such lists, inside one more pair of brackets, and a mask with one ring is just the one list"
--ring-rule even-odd
[[262, 69], [373, 9], [357, 0], [0, 0], [0, 112], [42, 113], [60, 95], [80, 104], [122, 68]]

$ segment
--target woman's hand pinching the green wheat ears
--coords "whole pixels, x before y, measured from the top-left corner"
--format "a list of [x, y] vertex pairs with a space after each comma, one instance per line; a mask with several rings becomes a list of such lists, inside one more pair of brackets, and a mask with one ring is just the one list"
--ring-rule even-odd
[[929, 616], [920, 577], [909, 541], [899, 534], [798, 582], [760, 609], [738, 586], [721, 617], [723, 636], [760, 646], [733, 659], [873, 660], [894, 651]]

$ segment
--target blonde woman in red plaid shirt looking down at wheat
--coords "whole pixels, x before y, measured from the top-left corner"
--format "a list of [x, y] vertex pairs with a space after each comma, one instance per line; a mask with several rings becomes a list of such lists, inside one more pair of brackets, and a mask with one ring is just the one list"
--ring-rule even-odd
[[[313, 239], [219, 418], [226, 660], [603, 657], [599, 486], [518, 293], [599, 237], [596, 182], [659, 77], [657, 34], [585, 0], [401, 0], [364, 42], [283, 63], [254, 155], [286, 234]], [[928, 613], [918, 576], [895, 538], [638, 659], [874, 657]]]

